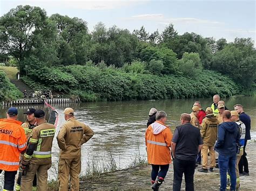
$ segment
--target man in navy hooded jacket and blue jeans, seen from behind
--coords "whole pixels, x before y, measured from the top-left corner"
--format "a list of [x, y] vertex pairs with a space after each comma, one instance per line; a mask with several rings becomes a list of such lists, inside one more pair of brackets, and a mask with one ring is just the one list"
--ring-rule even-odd
[[231, 119], [231, 112], [223, 111], [223, 123], [218, 128], [218, 139], [215, 151], [219, 153], [220, 190], [226, 190], [227, 171], [230, 173], [230, 189], [235, 190], [236, 175], [235, 161], [237, 158], [237, 145], [239, 145], [239, 126]]

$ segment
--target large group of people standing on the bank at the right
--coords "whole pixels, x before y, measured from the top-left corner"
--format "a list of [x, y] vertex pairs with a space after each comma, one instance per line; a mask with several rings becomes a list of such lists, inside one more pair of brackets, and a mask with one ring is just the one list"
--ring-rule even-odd
[[194, 190], [193, 177], [198, 164], [202, 164], [198, 169], [202, 173], [219, 168], [220, 190], [239, 188], [239, 176], [249, 175], [245, 147], [251, 139], [251, 119], [241, 104], [230, 111], [220, 96], [214, 95], [213, 104], [204, 111], [196, 101], [191, 114], [181, 114], [181, 125], [173, 134], [165, 124], [166, 112], [151, 108], [149, 117], [145, 143], [147, 159], [152, 165], [153, 190], [158, 190], [164, 182], [172, 159], [174, 191], [181, 189], [183, 174], [186, 190]]

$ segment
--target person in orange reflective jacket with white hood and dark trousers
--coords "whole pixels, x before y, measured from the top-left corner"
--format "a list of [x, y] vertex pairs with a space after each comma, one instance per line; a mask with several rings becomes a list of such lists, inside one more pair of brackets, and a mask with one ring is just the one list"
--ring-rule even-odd
[[157, 121], [149, 125], [145, 135], [147, 161], [152, 165], [151, 182], [153, 190], [159, 189], [171, 163], [169, 147], [171, 146], [172, 132], [165, 125], [166, 117], [166, 112], [158, 111], [156, 114]]

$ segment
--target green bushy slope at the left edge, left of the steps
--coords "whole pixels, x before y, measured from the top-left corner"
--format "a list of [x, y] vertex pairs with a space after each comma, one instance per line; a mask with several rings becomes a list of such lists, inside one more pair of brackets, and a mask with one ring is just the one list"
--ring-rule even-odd
[[12, 84], [6, 77], [4, 72], [0, 71], [0, 101], [14, 101], [22, 97], [14, 84]]

